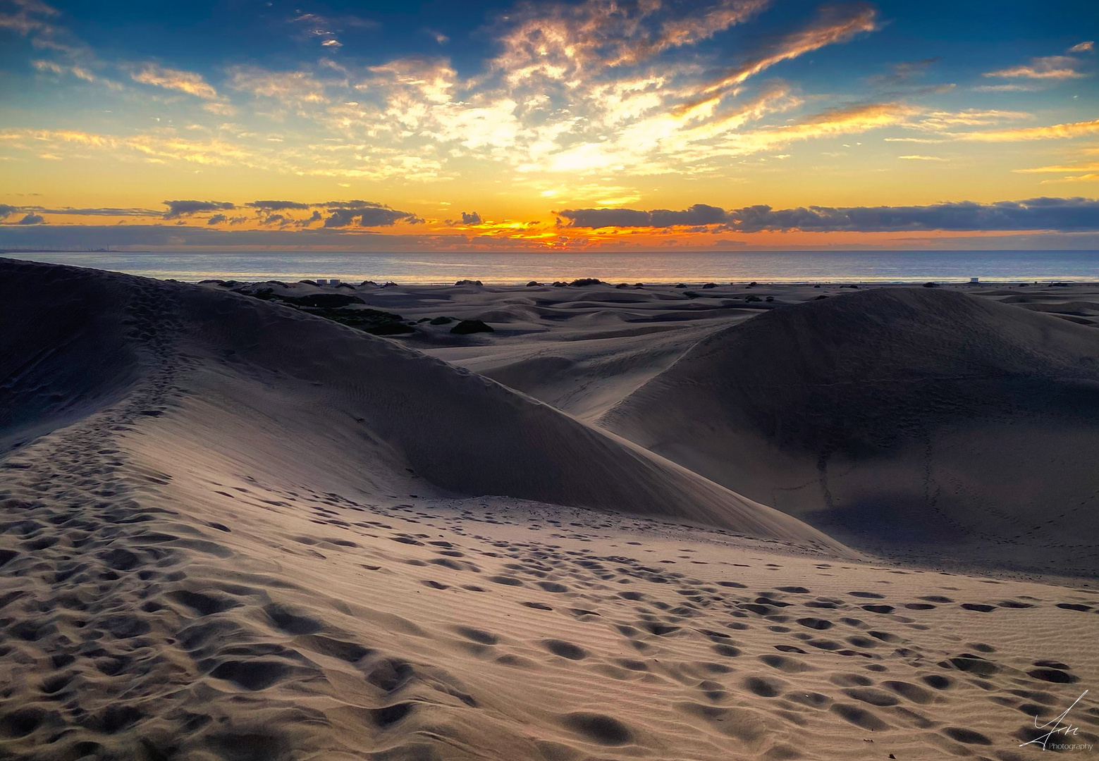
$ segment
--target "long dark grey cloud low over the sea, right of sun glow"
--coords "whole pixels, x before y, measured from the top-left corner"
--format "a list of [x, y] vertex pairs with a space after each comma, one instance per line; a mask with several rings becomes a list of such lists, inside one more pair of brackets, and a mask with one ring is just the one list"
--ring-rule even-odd
[[708, 226], [711, 231], [902, 232], [902, 231], [1099, 231], [1099, 200], [1035, 198], [976, 203], [958, 201], [926, 206], [744, 206], [724, 211], [695, 204], [685, 211], [573, 209], [557, 212], [564, 227]]

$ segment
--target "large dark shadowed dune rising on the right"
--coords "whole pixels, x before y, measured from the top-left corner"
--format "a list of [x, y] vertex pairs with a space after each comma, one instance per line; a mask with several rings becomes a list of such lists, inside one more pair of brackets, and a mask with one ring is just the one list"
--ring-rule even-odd
[[718, 332], [601, 419], [877, 551], [1099, 569], [1099, 333], [934, 289]]

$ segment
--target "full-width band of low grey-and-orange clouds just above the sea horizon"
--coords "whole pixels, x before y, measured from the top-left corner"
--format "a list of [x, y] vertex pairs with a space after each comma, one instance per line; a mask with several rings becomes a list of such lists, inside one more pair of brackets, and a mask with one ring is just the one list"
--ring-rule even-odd
[[[376, 249], [382, 247], [401, 250], [421, 247], [468, 250], [481, 247], [487, 250], [537, 250], [543, 244], [535, 240], [506, 238], [492, 235], [491, 222], [477, 212], [462, 212], [459, 220], [441, 221], [454, 232], [443, 233], [388, 233], [380, 235], [378, 227], [396, 225], [430, 226], [413, 212], [399, 211], [371, 201], [165, 201], [168, 210], [77, 209], [56, 210], [40, 206], [0, 205], [0, 247], [29, 248], [57, 247], [217, 247], [256, 246], [278, 248], [354, 249], [356, 246]], [[322, 213], [321, 210], [326, 210]], [[263, 228], [232, 230], [253, 221], [252, 217], [231, 217], [224, 212], [251, 210]], [[126, 212], [133, 212], [132, 220]], [[306, 212], [311, 212], [308, 215]], [[325, 216], [324, 214], [328, 214]], [[43, 214], [73, 216], [118, 215], [118, 222], [107, 224], [47, 223]], [[682, 210], [626, 208], [565, 209], [555, 211], [554, 230], [558, 239], [569, 240], [577, 232], [610, 231], [612, 238], [592, 244], [593, 250], [602, 247], [633, 249], [659, 247], [647, 240], [633, 240], [639, 231], [663, 231], [674, 234], [707, 236], [702, 247], [721, 244], [740, 248], [751, 245], [751, 237], [758, 233], [813, 233], [824, 234], [824, 245], [831, 245], [829, 235], [843, 233], [988, 233], [997, 240], [1007, 240], [1007, 233], [1048, 234], [1058, 246], [1086, 247], [1096, 245], [1099, 236], [1079, 237], [1079, 234], [1099, 233], [1099, 199], [1083, 197], [1041, 197], [1021, 201], [977, 203], [958, 201], [925, 206], [799, 206], [773, 209], [766, 204], [724, 210], [720, 206], [696, 203]], [[22, 216], [20, 216], [22, 215]], [[148, 224], [147, 217], [162, 222]], [[187, 224], [185, 221], [191, 221]], [[171, 222], [169, 224], [169, 222]], [[33, 227], [34, 231], [27, 231]], [[20, 228], [16, 231], [15, 228]], [[621, 235], [620, 235], [621, 234]], [[732, 234], [736, 238], [729, 238]], [[724, 238], [711, 236], [725, 235]], [[1074, 236], [1076, 236], [1074, 238]], [[374, 238], [374, 243], [364, 243]], [[701, 240], [701, 238], [700, 238]], [[1033, 239], [1031, 239], [1033, 243]], [[610, 245], [608, 245], [610, 244]], [[803, 245], [803, 244], [799, 244]], [[775, 246], [771, 246], [775, 247]], [[778, 247], [782, 247], [779, 245]], [[809, 244], [812, 247], [812, 244]]]

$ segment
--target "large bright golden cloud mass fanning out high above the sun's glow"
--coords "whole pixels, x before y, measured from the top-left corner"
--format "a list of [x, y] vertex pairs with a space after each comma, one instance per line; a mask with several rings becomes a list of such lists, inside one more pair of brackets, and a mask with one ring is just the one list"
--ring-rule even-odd
[[[463, 161], [469, 158], [499, 161], [528, 177], [544, 171], [595, 175], [625, 167], [634, 175], [654, 175], [713, 171], [730, 157], [791, 141], [903, 121], [900, 111], [885, 116], [879, 105], [877, 114], [872, 113], [874, 108], [864, 108], [859, 117], [842, 122], [839, 109], [832, 122], [806, 124], [802, 119], [768, 124], [765, 120], [792, 112], [808, 98], [785, 82], [703, 92], [715, 81], [720, 86], [723, 78], [743, 81], [780, 60], [876, 29], [873, 8], [844, 5], [826, 9], [803, 29], [786, 34], [759, 32], [744, 35], [747, 42], [737, 46], [732, 41], [701, 46], [751, 22], [770, 3], [521, 3], [489, 29], [499, 55], [468, 79], [440, 56], [382, 59], [374, 66], [329, 56], [290, 70], [231, 66], [217, 89], [197, 72], [153, 63], [122, 64], [136, 81], [193, 94], [202, 109], [231, 116], [234, 123], [210, 127], [208, 120], [214, 120], [208, 114], [174, 99], [173, 108], [198, 112], [188, 119], [207, 125], [204, 131], [184, 132], [176, 126], [182, 123], [177, 117], [156, 127], [86, 134], [89, 142], [78, 144], [59, 131], [34, 131], [38, 134], [32, 136], [32, 131], [21, 130], [25, 139], [18, 148], [34, 148], [34, 156], [48, 149], [69, 159], [78, 152], [87, 154], [87, 146], [120, 160], [243, 166], [287, 176], [373, 181], [460, 177], [468, 171]], [[799, 23], [792, 14], [778, 20], [788, 24], [786, 30]], [[317, 45], [335, 41], [340, 24], [352, 21], [297, 13], [291, 27]], [[343, 40], [343, 34], [338, 36]], [[737, 59], [737, 66], [715, 68]], [[914, 77], [921, 66], [921, 61], [901, 64], [897, 74]], [[219, 94], [222, 90], [232, 101]], [[273, 144], [269, 134], [255, 127], [257, 117], [280, 123], [284, 142]], [[631, 202], [626, 194], [591, 201]], [[353, 224], [357, 223], [356, 219]]]

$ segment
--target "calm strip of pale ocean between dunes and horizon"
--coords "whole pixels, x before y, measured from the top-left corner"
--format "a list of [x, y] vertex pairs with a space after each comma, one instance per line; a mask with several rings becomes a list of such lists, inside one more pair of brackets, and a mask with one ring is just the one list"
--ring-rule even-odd
[[1099, 281], [1099, 251], [737, 251], [357, 254], [346, 251], [11, 251], [4, 256], [198, 281], [340, 278], [398, 283]]

